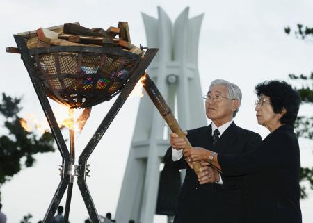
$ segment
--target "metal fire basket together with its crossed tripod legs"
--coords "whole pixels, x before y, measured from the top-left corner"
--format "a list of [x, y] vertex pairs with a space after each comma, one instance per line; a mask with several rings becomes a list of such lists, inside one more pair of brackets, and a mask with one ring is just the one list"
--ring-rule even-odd
[[[87, 160], [158, 49], [147, 49], [143, 57], [123, 51], [121, 47], [56, 46], [28, 49], [22, 36], [14, 35], [14, 38], [63, 158], [61, 181], [43, 222], [53, 221], [66, 189], [65, 222], [68, 222], [74, 176], [77, 176], [90, 219], [93, 223], [100, 223], [86, 184], [89, 172]], [[47, 97], [70, 108], [90, 108], [116, 95], [118, 98], [75, 165], [74, 131], [70, 131], [70, 149], [67, 149]]]

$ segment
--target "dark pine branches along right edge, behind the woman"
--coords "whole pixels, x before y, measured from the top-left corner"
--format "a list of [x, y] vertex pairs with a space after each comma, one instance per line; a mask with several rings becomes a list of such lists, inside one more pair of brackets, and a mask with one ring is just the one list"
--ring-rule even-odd
[[[291, 34], [291, 28], [284, 28], [285, 33]], [[293, 32], [296, 38], [302, 40], [313, 40], [313, 28], [297, 24], [296, 30]], [[313, 72], [311, 75], [295, 75], [289, 74], [289, 78], [295, 83], [300, 82], [300, 88], [296, 88], [300, 94], [302, 104], [308, 104], [313, 107]], [[299, 84], [298, 84], [299, 85]], [[307, 138], [313, 140], [313, 116], [299, 116], [295, 124], [295, 132], [298, 138]], [[302, 182], [310, 183], [313, 190], [313, 167], [301, 167], [300, 177]], [[307, 197], [307, 188], [301, 184], [301, 197]]]

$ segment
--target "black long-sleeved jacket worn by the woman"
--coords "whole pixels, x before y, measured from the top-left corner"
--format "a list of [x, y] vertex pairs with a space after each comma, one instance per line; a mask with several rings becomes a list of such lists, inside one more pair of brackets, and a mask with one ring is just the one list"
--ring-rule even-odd
[[283, 125], [245, 154], [219, 154], [225, 176], [248, 174], [246, 223], [300, 223], [300, 151], [293, 126]]

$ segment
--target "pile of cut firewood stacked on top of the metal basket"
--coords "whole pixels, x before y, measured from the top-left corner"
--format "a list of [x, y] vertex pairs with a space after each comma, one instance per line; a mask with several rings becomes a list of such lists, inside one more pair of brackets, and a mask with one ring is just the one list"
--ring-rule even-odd
[[[143, 51], [131, 44], [127, 22], [119, 22], [118, 27], [86, 28], [79, 23], [65, 23], [62, 26], [38, 28], [36, 31], [18, 33], [27, 40], [29, 49], [50, 46], [121, 46], [123, 50], [142, 55]], [[17, 49], [8, 47], [9, 53], [18, 53]]]

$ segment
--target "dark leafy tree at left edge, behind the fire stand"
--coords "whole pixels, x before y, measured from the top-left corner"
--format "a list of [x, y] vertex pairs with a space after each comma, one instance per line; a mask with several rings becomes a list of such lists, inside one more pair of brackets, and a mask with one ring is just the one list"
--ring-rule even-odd
[[0, 189], [3, 183], [9, 181], [23, 167], [33, 166], [35, 154], [54, 151], [51, 133], [36, 135], [22, 127], [18, 116], [22, 110], [20, 102], [20, 98], [2, 94], [0, 115], [5, 119], [4, 127], [8, 134], [0, 135]]

